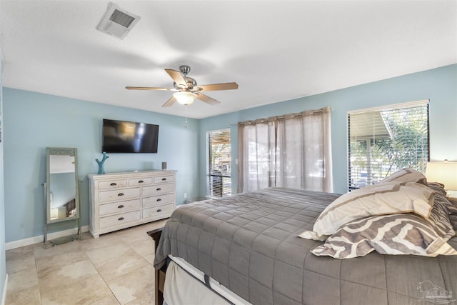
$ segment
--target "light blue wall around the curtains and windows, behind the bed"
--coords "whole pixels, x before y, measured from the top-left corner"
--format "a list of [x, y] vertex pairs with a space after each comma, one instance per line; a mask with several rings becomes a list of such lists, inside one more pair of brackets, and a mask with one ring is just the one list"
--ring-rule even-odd
[[[306, 84], [303, 84], [306, 86]], [[215, 116], [200, 121], [201, 176], [206, 172], [205, 134], [214, 129], [229, 128], [232, 137], [232, 188], [238, 183], [238, 121], [266, 118], [281, 114], [319, 109], [330, 106], [333, 154], [333, 191], [345, 193], [347, 185], [347, 111], [374, 106], [398, 104], [406, 101], [430, 99], [430, 153], [432, 160], [457, 161], [457, 64], [422, 71], [370, 84], [327, 92], [301, 99], [260, 106], [233, 114]], [[205, 184], [200, 184], [205, 194]]]

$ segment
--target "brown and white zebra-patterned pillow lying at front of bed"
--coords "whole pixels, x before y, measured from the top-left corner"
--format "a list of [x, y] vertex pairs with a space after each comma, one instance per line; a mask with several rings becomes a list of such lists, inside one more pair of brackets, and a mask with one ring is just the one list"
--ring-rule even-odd
[[414, 214], [392, 214], [351, 221], [311, 252], [335, 259], [365, 256], [374, 250], [394, 255], [457, 255], [456, 249], [446, 242], [455, 234], [446, 207], [435, 202], [428, 219]]

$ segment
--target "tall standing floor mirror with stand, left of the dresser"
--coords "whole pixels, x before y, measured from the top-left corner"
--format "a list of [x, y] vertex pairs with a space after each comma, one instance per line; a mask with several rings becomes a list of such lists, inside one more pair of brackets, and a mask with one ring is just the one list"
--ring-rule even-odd
[[[82, 239], [79, 213], [78, 151], [75, 148], [46, 148], [46, 224], [44, 245], [48, 246], [51, 227], [74, 230], [76, 234], [60, 236], [49, 242], [56, 246]], [[72, 225], [72, 226], [71, 226]], [[76, 227], [77, 226], [77, 227]], [[54, 231], [54, 230], [53, 230]], [[53, 232], [54, 233], [54, 232]], [[56, 233], [56, 235], [61, 235]]]

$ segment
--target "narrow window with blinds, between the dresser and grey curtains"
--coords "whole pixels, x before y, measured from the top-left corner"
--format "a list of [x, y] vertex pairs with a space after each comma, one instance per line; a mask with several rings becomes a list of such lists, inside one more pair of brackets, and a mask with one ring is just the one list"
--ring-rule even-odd
[[206, 132], [206, 195], [222, 197], [231, 194], [230, 129]]

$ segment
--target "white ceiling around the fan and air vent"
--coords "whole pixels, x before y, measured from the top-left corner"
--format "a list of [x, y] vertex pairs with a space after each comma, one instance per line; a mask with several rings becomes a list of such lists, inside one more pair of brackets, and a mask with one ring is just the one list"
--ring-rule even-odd
[[457, 1], [116, 1], [141, 16], [124, 39], [96, 30], [109, 1], [0, 0], [3, 85], [184, 116], [161, 105], [165, 68], [191, 66], [204, 118], [457, 63]]

